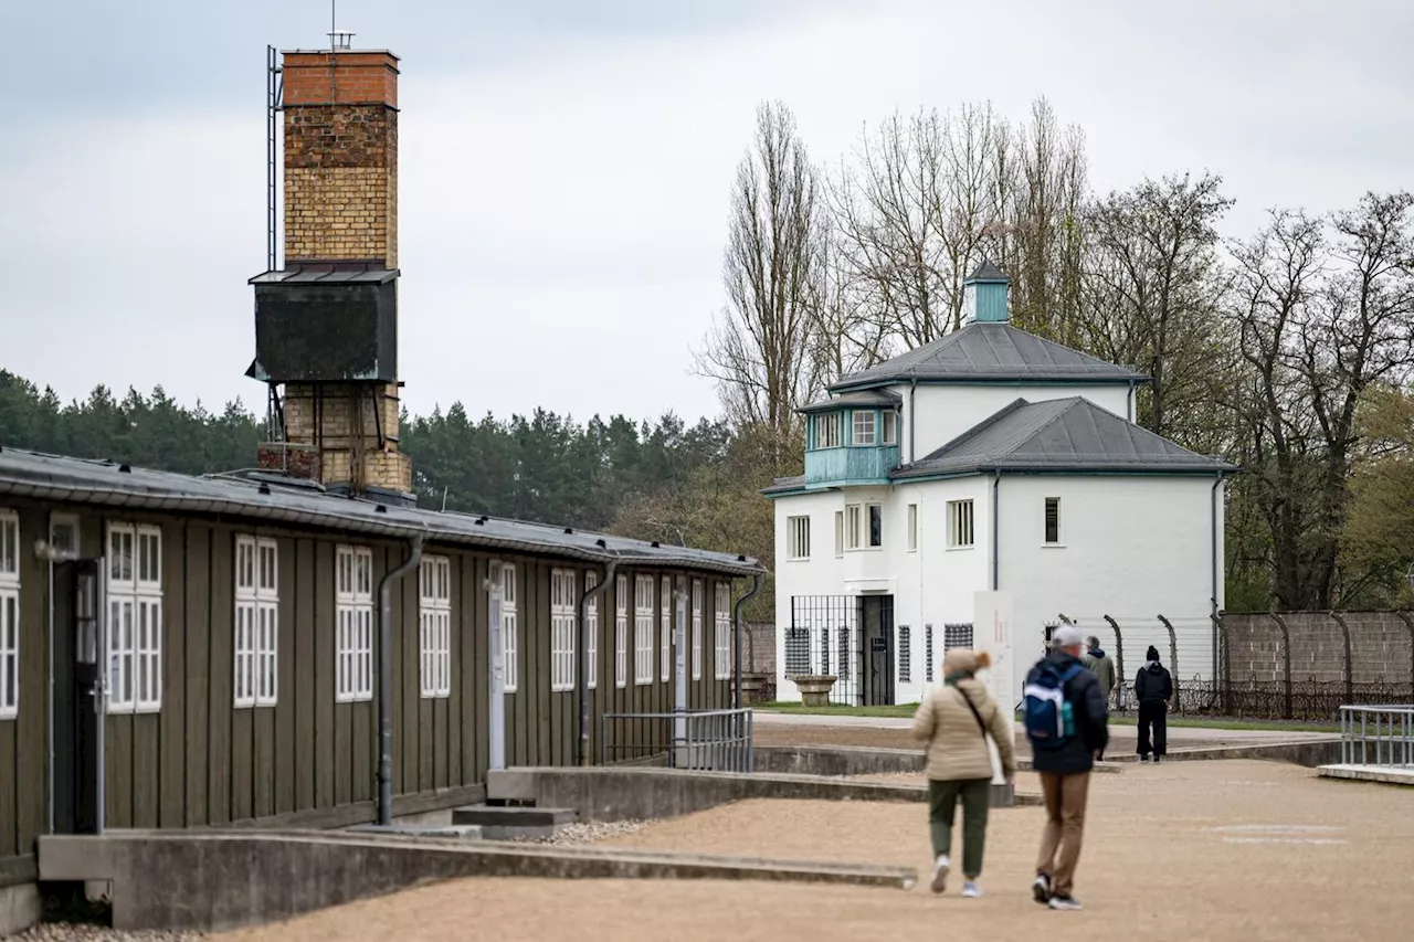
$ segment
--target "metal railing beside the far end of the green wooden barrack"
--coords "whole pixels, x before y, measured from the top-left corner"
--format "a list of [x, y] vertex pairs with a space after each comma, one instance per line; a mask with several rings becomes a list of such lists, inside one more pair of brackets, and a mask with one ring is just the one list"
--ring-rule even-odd
[[751, 772], [754, 743], [749, 709], [605, 713], [600, 726], [600, 762], [666, 761], [669, 768]]

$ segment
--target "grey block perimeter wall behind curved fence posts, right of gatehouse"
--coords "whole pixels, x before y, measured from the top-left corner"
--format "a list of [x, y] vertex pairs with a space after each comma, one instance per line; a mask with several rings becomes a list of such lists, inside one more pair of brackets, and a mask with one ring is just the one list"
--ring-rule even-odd
[[[1391, 611], [1340, 612], [1350, 627], [1350, 662], [1355, 683], [1414, 683], [1414, 653], [1408, 624]], [[1294, 685], [1345, 680], [1345, 635], [1321, 611], [1285, 612], [1291, 632]], [[1232, 678], [1236, 682], [1284, 679], [1281, 628], [1267, 614], [1226, 614], [1223, 627], [1232, 645]]]

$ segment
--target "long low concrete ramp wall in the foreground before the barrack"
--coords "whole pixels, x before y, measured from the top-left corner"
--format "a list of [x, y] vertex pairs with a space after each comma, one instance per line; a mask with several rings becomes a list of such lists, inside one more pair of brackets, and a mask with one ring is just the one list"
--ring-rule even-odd
[[906, 890], [918, 871], [349, 833], [40, 837], [40, 878], [112, 880], [113, 928], [122, 931], [221, 932], [458, 877], [786, 880]]

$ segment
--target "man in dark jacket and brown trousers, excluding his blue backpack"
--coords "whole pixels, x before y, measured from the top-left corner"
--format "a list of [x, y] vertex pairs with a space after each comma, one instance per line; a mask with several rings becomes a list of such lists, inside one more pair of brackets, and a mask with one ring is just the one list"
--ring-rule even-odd
[[1031, 767], [1041, 774], [1041, 795], [1046, 805], [1046, 829], [1041, 837], [1031, 892], [1036, 902], [1052, 909], [1079, 909], [1080, 902], [1072, 890], [1085, 836], [1090, 769], [1094, 768], [1094, 757], [1110, 741], [1110, 714], [1100, 682], [1080, 662], [1080, 652], [1085, 651], [1080, 629], [1062, 625], [1051, 644], [1051, 653], [1031, 669], [1027, 683], [1035, 683], [1048, 662], [1060, 672], [1079, 668], [1062, 690], [1070, 704], [1075, 735], [1059, 748], [1031, 750]]

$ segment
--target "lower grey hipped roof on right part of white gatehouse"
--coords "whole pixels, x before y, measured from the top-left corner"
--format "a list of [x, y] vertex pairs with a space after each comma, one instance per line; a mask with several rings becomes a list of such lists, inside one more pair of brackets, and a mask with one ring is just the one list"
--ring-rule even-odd
[[1189, 451], [1076, 396], [1036, 403], [1018, 399], [889, 477], [997, 470], [1157, 474], [1239, 471], [1236, 465]]

